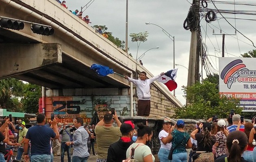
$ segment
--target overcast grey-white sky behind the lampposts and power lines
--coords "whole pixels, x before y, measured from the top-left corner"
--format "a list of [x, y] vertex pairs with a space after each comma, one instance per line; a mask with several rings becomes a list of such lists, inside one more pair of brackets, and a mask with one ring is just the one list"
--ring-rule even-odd
[[[90, 0], [66, 0], [68, 10], [80, 11], [81, 6], [85, 6]], [[214, 0], [213, 0], [214, 1]], [[225, 0], [234, 2], [234, 0]], [[247, 2], [254, 2], [255, 0], [247, 0]], [[145, 22], [155, 23], [164, 28], [171, 36], [175, 36], [175, 63], [185, 67], [189, 67], [189, 49], [191, 32], [184, 30], [183, 22], [187, 17], [189, 7], [192, 0], [129, 0], [128, 4], [128, 34], [148, 31], [148, 41], [141, 43], [138, 57], [150, 48], [159, 46], [159, 49], [152, 49], [148, 51], [141, 59], [143, 66], [147, 68], [152, 74], [158, 75], [161, 72], [166, 72], [173, 68], [173, 41], [165, 35], [161, 28], [154, 25], [145, 25]], [[234, 9], [255, 11], [255, 6], [241, 6], [230, 4], [215, 4], [218, 9]], [[213, 4], [208, 3], [208, 9], [215, 9]], [[89, 19], [93, 25], [106, 25], [108, 32], [113, 32], [113, 36], [120, 40], [125, 40], [125, 21], [126, 21], [126, 0], [95, 0], [91, 6], [83, 13], [83, 16], [89, 15]], [[234, 17], [233, 14], [224, 14], [224, 17]], [[221, 56], [222, 36], [213, 35], [220, 34], [220, 28], [223, 34], [235, 34], [235, 30], [217, 14], [218, 20], [207, 23], [203, 18], [200, 22], [202, 38], [208, 47], [208, 54]], [[256, 16], [238, 15], [236, 18], [256, 19]], [[236, 29], [245, 36], [255, 41], [255, 21], [227, 19]], [[207, 30], [206, 30], [207, 29]], [[206, 32], [205, 32], [206, 31]], [[208, 36], [206, 36], [206, 34]], [[209, 38], [208, 38], [209, 37]], [[237, 40], [238, 38], [239, 40]], [[225, 37], [225, 57], [240, 57], [240, 54], [255, 49], [252, 43], [237, 32], [237, 36]], [[136, 58], [137, 44], [132, 43], [130, 37], [128, 38], [129, 53], [132, 53], [133, 58]], [[218, 58], [209, 56], [209, 60], [213, 65], [213, 72], [219, 73]], [[186, 103], [183, 97], [182, 85], [187, 85], [188, 70], [182, 66], [178, 68], [176, 82], [178, 88], [176, 89], [176, 98], [182, 104]], [[201, 72], [201, 70], [200, 70]], [[205, 71], [203, 76], [206, 77]]]

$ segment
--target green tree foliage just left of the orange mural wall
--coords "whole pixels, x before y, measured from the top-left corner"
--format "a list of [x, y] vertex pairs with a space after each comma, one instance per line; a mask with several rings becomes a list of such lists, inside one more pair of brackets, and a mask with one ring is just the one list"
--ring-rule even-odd
[[24, 84], [21, 102], [26, 113], [38, 113], [38, 101], [41, 97], [41, 86], [32, 83]]

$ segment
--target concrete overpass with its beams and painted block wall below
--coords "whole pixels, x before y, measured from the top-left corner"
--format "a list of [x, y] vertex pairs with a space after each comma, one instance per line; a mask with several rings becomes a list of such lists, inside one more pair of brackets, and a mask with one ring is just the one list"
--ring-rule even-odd
[[[53, 109], [65, 120], [78, 114], [89, 118], [95, 111], [99, 116], [108, 107], [116, 107], [120, 115], [135, 110], [134, 86], [116, 74], [99, 77], [90, 66], [102, 64], [121, 75], [135, 77], [136, 60], [58, 2], [0, 0], [0, 17], [26, 22], [23, 30], [0, 28], [0, 79], [14, 77], [47, 87], [39, 111], [49, 116]], [[33, 23], [51, 26], [54, 34], [33, 33]], [[153, 77], [141, 65], [137, 70]], [[170, 116], [174, 108], [182, 107], [161, 83], [154, 82], [151, 93], [151, 115]]]

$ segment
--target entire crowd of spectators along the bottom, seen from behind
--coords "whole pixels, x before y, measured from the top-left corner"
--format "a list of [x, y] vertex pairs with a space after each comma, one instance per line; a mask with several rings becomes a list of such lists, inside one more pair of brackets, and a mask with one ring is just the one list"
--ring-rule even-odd
[[[198, 122], [189, 134], [183, 120], [179, 119], [173, 126], [169, 119], [164, 119], [163, 129], [155, 132], [161, 144], [160, 162], [256, 162], [254, 119], [253, 123], [245, 123], [239, 114], [234, 114], [227, 121], [228, 125], [223, 119]], [[136, 130], [133, 121], [121, 123], [116, 112], [106, 113], [96, 126], [84, 126], [81, 117], [73, 120], [73, 126], [67, 122], [57, 124], [55, 118], [46, 124], [46, 116], [38, 114], [37, 125], [27, 129], [24, 121], [17, 120], [13, 125], [7, 118], [1, 121], [0, 127], [0, 162], [5, 162], [6, 145], [19, 147], [17, 160], [24, 153], [26, 162], [53, 162], [54, 156], [61, 156], [64, 162], [65, 152], [68, 162], [87, 162], [91, 150], [97, 155], [96, 162], [154, 162], [152, 136], [151, 127], [138, 123]], [[98, 154], [94, 150], [96, 139]]]

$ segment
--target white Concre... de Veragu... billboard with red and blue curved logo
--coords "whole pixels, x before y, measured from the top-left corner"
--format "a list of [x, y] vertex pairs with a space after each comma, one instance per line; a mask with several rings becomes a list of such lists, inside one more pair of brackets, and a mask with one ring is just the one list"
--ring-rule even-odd
[[241, 98], [244, 112], [256, 112], [256, 58], [219, 58], [219, 93]]

